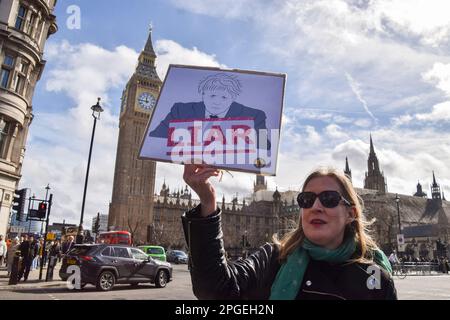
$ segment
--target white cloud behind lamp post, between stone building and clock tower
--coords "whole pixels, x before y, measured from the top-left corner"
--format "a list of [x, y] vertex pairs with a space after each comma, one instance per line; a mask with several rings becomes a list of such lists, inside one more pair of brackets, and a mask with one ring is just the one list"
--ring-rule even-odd
[[[137, 53], [119, 46], [111, 51], [93, 44], [49, 43], [45, 83], [49, 92], [60, 92], [66, 103], [59, 113], [42, 113], [30, 129], [29, 147], [21, 183], [37, 196], [50, 183], [54, 194], [51, 221], [78, 223], [87, 167], [93, 118], [90, 106], [101, 97], [104, 112], [96, 126], [84, 226], [98, 211], [107, 213], [117, 144], [118, 102], [110, 101], [113, 90], [122, 90], [136, 65]], [[114, 150], [114, 151], [113, 151]]]

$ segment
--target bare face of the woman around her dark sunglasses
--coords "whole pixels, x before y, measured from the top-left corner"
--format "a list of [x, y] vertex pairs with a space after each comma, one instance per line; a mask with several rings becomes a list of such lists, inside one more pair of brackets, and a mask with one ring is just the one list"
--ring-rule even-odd
[[[315, 194], [337, 191], [342, 195], [337, 181], [327, 176], [312, 179], [304, 191]], [[316, 198], [311, 208], [302, 209], [301, 219], [306, 238], [316, 245], [336, 249], [344, 239], [345, 226], [353, 221], [354, 210], [354, 207], [346, 206], [343, 201], [335, 208], [326, 208]]]

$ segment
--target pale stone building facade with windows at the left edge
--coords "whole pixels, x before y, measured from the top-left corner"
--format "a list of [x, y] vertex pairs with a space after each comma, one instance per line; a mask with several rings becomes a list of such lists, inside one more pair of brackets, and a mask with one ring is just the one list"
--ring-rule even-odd
[[57, 31], [56, 0], [0, 1], [0, 234], [5, 234], [21, 178], [32, 99], [45, 66], [47, 38]]

